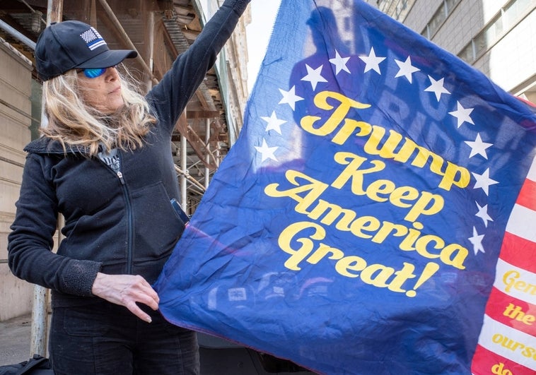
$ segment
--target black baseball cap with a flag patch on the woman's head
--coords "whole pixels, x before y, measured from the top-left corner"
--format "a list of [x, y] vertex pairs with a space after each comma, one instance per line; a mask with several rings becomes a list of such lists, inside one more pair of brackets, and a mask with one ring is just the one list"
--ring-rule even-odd
[[132, 49], [109, 49], [99, 32], [87, 23], [66, 20], [41, 32], [35, 46], [35, 67], [43, 81], [71, 69], [108, 68], [138, 56]]

